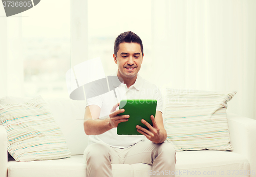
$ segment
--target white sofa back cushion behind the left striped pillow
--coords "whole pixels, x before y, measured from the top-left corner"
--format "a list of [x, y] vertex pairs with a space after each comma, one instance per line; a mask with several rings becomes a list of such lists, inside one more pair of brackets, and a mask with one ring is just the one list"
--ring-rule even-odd
[[[31, 98], [3, 97], [0, 104], [23, 103]], [[60, 127], [72, 155], [83, 154], [88, 136], [83, 130], [84, 101], [71, 99], [45, 99], [53, 118]]]

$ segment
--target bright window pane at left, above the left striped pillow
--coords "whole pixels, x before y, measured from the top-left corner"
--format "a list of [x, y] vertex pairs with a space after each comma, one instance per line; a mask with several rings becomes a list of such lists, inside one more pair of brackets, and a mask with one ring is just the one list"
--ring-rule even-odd
[[25, 96], [68, 97], [70, 1], [44, 0], [23, 16]]

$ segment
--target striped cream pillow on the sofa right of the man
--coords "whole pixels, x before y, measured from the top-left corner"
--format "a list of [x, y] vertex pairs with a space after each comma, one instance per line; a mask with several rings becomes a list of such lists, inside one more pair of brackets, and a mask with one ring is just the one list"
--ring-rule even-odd
[[167, 141], [176, 151], [232, 150], [226, 108], [236, 92], [166, 89]]

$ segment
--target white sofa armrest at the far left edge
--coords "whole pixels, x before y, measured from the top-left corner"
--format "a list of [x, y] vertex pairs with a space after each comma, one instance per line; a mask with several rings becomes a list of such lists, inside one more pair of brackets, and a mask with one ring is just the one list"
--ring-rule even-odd
[[0, 125], [0, 177], [7, 177], [7, 133], [5, 127]]

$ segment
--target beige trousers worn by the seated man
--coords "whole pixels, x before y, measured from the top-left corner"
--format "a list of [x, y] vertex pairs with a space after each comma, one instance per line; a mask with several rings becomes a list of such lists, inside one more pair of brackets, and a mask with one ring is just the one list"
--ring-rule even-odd
[[83, 157], [87, 163], [88, 177], [113, 177], [111, 164], [135, 163], [153, 165], [152, 171], [147, 172], [151, 176], [175, 176], [176, 152], [170, 143], [143, 141], [127, 148], [93, 143], [84, 150]]

